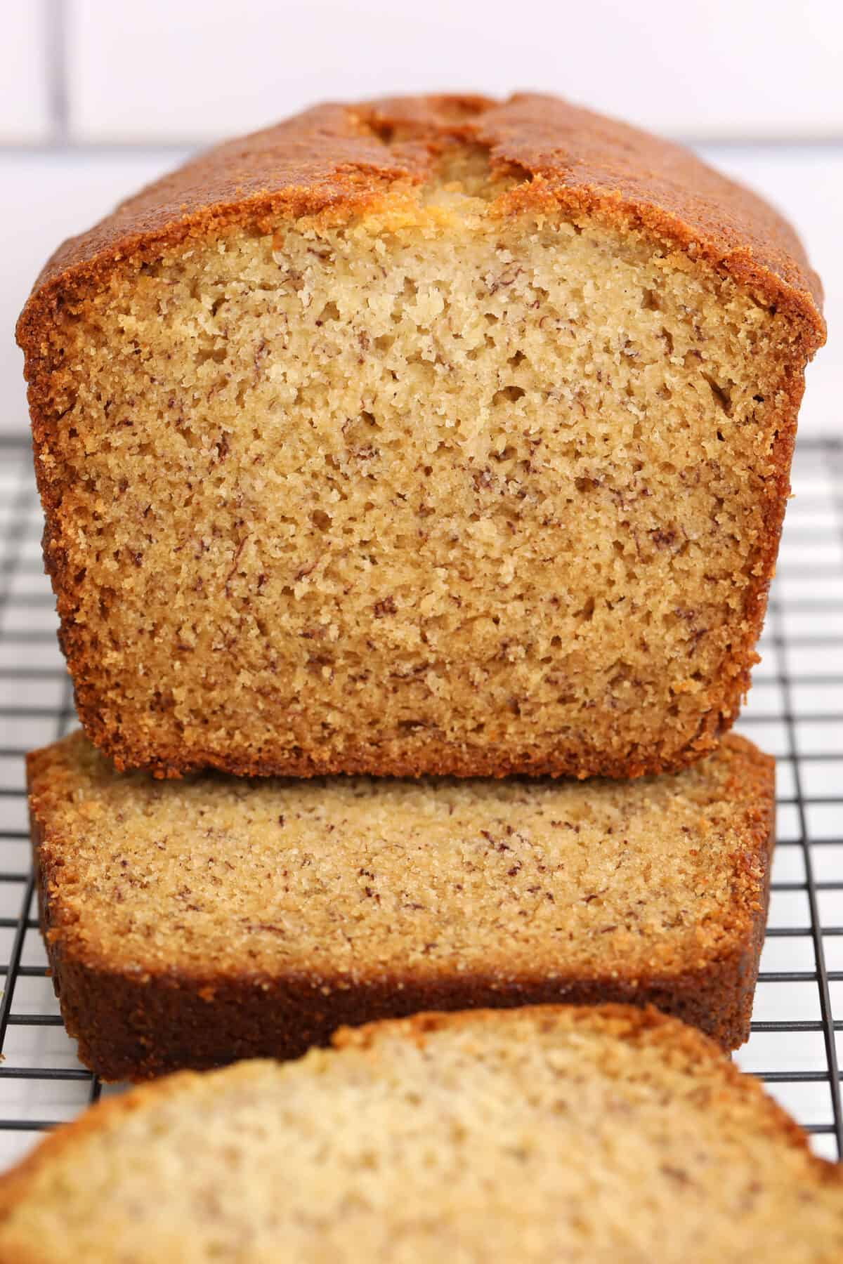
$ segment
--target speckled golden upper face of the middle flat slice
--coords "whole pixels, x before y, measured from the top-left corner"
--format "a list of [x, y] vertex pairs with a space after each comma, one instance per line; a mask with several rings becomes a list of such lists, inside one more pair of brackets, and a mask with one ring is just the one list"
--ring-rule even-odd
[[53, 939], [139, 971], [351, 981], [680, 973], [763, 918], [772, 767], [731, 738], [679, 776], [310, 781], [33, 757]]

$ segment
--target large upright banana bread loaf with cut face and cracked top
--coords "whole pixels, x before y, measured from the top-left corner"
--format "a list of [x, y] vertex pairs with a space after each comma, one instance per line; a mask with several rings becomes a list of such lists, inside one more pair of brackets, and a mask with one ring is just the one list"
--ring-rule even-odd
[[554, 97], [310, 110], [66, 243], [18, 337], [119, 767], [636, 776], [737, 714], [820, 287]]

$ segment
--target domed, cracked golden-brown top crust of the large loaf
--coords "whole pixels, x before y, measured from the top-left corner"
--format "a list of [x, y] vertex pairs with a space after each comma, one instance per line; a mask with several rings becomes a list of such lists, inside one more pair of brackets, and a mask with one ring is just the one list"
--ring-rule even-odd
[[143, 262], [272, 212], [361, 209], [397, 181], [423, 182], [449, 143], [480, 145], [493, 171], [522, 176], [498, 198], [500, 214], [561, 207], [645, 228], [800, 319], [808, 354], [824, 341], [819, 278], [794, 230], [762, 198], [680, 145], [533, 94], [504, 102], [423, 96], [320, 105], [219, 145], [59, 246], [24, 308], [19, 341], [32, 346], [62, 291], [87, 288], [119, 260]]

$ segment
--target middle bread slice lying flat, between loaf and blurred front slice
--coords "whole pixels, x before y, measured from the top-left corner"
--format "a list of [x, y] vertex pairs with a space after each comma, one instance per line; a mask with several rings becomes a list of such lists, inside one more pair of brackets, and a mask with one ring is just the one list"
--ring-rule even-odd
[[161, 782], [81, 733], [29, 757], [62, 1014], [106, 1079], [297, 1057], [423, 1009], [653, 1002], [748, 1034], [773, 765], [676, 777]]

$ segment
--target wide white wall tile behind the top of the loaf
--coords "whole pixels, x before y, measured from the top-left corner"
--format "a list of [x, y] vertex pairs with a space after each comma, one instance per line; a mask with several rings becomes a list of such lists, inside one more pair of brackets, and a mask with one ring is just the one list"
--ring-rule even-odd
[[305, 104], [536, 87], [696, 135], [843, 130], [837, 0], [66, 0], [72, 134], [212, 138]]

